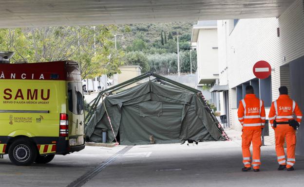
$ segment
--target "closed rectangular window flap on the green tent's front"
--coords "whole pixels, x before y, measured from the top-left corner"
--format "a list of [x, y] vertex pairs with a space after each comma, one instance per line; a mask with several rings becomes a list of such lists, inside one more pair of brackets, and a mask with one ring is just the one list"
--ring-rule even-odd
[[161, 116], [163, 114], [162, 102], [147, 101], [139, 103], [139, 116]]

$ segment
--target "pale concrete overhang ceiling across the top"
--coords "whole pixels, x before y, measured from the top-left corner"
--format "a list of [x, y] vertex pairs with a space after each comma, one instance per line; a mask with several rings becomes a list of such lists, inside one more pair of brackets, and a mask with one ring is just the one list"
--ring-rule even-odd
[[0, 0], [0, 28], [278, 17], [294, 0]]

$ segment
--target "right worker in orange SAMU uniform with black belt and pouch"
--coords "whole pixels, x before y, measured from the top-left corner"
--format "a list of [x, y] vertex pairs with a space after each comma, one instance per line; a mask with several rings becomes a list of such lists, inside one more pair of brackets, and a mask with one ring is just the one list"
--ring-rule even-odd
[[[298, 104], [289, 98], [286, 86], [280, 87], [279, 92], [280, 97], [272, 102], [268, 117], [275, 133], [277, 159], [280, 165], [278, 170], [287, 168], [287, 171], [292, 171], [294, 170], [293, 165], [296, 162], [296, 129], [300, 125], [302, 112]], [[292, 116], [294, 114], [296, 120]], [[287, 144], [287, 162], [283, 147], [284, 138], [286, 138]]]

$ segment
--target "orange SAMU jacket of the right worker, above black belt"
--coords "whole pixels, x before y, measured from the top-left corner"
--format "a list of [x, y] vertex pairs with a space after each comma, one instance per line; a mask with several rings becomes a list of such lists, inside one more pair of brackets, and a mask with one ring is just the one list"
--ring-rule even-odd
[[[297, 121], [300, 123], [302, 119], [302, 112], [298, 104], [289, 98], [288, 95], [280, 95], [278, 100], [272, 102], [269, 111], [269, 122], [273, 126], [273, 120], [277, 122], [288, 121], [294, 119], [293, 114], [296, 115]], [[279, 125], [279, 124], [278, 124]]]

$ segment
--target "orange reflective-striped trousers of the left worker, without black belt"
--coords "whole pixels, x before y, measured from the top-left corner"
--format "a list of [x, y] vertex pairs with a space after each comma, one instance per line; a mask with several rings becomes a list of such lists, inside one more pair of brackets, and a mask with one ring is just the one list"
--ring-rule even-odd
[[[243, 164], [246, 168], [260, 169], [261, 165], [261, 134], [262, 129], [259, 130], [243, 130], [242, 134], [242, 153], [243, 153]], [[250, 145], [252, 141], [252, 163], [250, 154]]]

